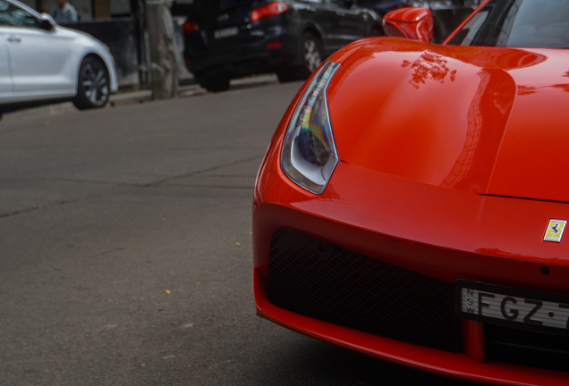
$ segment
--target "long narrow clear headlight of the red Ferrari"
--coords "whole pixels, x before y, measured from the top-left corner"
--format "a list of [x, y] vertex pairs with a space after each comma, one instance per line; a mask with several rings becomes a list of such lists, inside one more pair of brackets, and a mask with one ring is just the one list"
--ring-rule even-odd
[[285, 134], [281, 166], [302, 188], [320, 194], [338, 164], [327, 105], [327, 88], [340, 64], [327, 62], [310, 82]]

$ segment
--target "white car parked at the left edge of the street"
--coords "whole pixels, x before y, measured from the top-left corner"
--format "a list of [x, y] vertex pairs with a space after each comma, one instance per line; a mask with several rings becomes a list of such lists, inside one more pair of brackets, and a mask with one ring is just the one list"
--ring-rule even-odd
[[62, 100], [81, 110], [103, 107], [117, 89], [104, 44], [58, 26], [47, 13], [0, 0], [0, 116]]

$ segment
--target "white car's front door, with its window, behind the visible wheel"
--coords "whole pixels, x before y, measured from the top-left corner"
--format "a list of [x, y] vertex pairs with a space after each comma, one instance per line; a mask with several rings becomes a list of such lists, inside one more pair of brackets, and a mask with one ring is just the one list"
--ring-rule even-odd
[[69, 38], [14, 4], [0, 0], [0, 28], [12, 63], [14, 91], [46, 95], [72, 92], [77, 69], [71, 63]]

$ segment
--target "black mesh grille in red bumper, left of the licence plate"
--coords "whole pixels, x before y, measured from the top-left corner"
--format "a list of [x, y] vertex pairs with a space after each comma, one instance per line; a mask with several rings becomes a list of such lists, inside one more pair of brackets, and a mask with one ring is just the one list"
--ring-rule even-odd
[[275, 306], [327, 323], [463, 352], [454, 284], [296, 231], [273, 236], [268, 297]]

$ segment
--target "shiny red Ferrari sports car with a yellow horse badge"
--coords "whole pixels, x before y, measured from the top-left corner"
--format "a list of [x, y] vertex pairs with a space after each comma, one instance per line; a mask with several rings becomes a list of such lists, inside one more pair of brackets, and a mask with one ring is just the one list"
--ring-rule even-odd
[[443, 45], [427, 9], [384, 23], [268, 148], [259, 315], [466, 381], [569, 384], [569, 0], [487, 0]]

